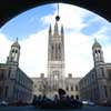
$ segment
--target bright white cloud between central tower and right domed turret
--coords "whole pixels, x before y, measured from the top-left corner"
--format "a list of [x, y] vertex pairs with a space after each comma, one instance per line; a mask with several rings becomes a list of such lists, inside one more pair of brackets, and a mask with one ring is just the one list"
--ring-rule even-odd
[[[88, 36], [71, 32], [65, 36], [65, 72], [83, 77], [93, 67], [92, 41]], [[65, 73], [65, 74], [67, 74]]]

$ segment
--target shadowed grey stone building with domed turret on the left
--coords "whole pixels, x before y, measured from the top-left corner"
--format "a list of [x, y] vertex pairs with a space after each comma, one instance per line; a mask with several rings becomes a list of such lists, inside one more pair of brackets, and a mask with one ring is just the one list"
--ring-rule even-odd
[[32, 98], [32, 80], [19, 68], [20, 44], [11, 46], [7, 63], [0, 63], [0, 101], [29, 102]]

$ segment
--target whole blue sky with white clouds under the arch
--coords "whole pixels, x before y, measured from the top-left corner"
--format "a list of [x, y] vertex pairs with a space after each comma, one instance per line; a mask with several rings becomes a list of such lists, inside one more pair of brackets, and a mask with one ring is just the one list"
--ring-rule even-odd
[[[6, 63], [11, 44], [19, 39], [19, 67], [29, 77], [48, 74], [48, 31], [58, 13], [56, 3], [30, 9], [0, 29], [0, 62]], [[104, 61], [111, 62], [111, 23], [77, 6], [59, 3], [59, 27], [64, 28], [65, 75], [84, 77], [93, 68], [92, 44], [100, 42]]]

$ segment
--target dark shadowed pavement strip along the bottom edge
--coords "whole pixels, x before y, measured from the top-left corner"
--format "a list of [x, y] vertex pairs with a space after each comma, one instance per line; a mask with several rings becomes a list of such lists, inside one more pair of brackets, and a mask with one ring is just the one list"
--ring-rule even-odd
[[[34, 107], [0, 107], [0, 111], [46, 111], [46, 109], [37, 109]], [[47, 110], [49, 111], [49, 110]], [[50, 110], [50, 111], [56, 111]], [[61, 110], [58, 110], [61, 111]], [[63, 111], [111, 111], [111, 107], [83, 107], [82, 109], [72, 109]]]

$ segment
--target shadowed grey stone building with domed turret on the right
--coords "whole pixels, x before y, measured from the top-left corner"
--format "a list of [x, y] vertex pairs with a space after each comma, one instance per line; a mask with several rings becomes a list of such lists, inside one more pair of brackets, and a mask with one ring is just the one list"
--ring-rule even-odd
[[94, 68], [79, 82], [80, 98], [97, 103], [111, 99], [111, 63], [105, 63], [101, 44], [92, 46]]

